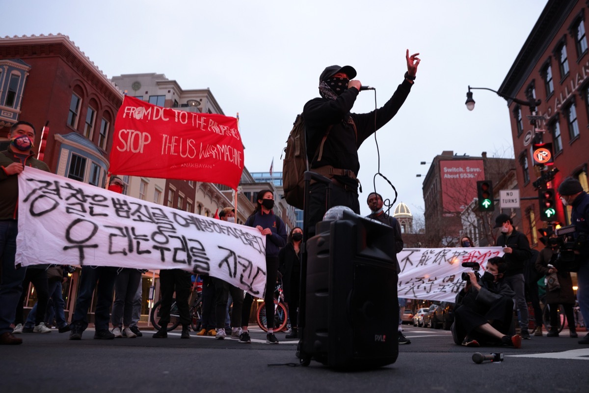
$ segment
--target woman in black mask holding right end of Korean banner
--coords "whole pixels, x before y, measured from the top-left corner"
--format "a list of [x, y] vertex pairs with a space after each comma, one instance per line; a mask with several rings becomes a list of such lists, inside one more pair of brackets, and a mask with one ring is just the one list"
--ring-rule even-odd
[[[248, 217], [247, 226], [256, 228], [266, 236], [266, 292], [264, 302], [266, 302], [266, 318], [268, 323], [268, 333], [266, 342], [268, 344], [278, 344], [274, 336], [274, 285], [278, 276], [278, 253], [281, 247], [286, 245], [286, 228], [280, 217], [274, 214], [274, 194], [271, 190], [262, 190], [257, 194], [256, 210]], [[239, 342], [252, 342], [247, 332], [249, 325], [250, 309], [252, 308], [253, 296], [249, 293], [243, 299], [243, 308], [241, 309], [241, 328], [242, 333]]]

